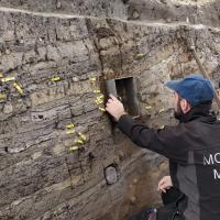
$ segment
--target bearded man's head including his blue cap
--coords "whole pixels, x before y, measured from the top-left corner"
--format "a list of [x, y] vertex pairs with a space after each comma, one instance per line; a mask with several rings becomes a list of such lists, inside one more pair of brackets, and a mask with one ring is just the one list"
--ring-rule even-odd
[[210, 103], [215, 98], [211, 81], [199, 74], [191, 74], [182, 80], [168, 81], [166, 86], [174, 90], [173, 105], [177, 119], [189, 112], [194, 107]]

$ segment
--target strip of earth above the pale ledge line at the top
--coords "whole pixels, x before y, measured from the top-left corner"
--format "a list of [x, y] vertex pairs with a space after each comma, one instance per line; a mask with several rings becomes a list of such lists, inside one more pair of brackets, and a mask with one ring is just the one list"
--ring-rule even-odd
[[185, 22], [219, 26], [218, 0], [1, 0], [1, 7], [34, 12], [121, 18], [165, 22]]

